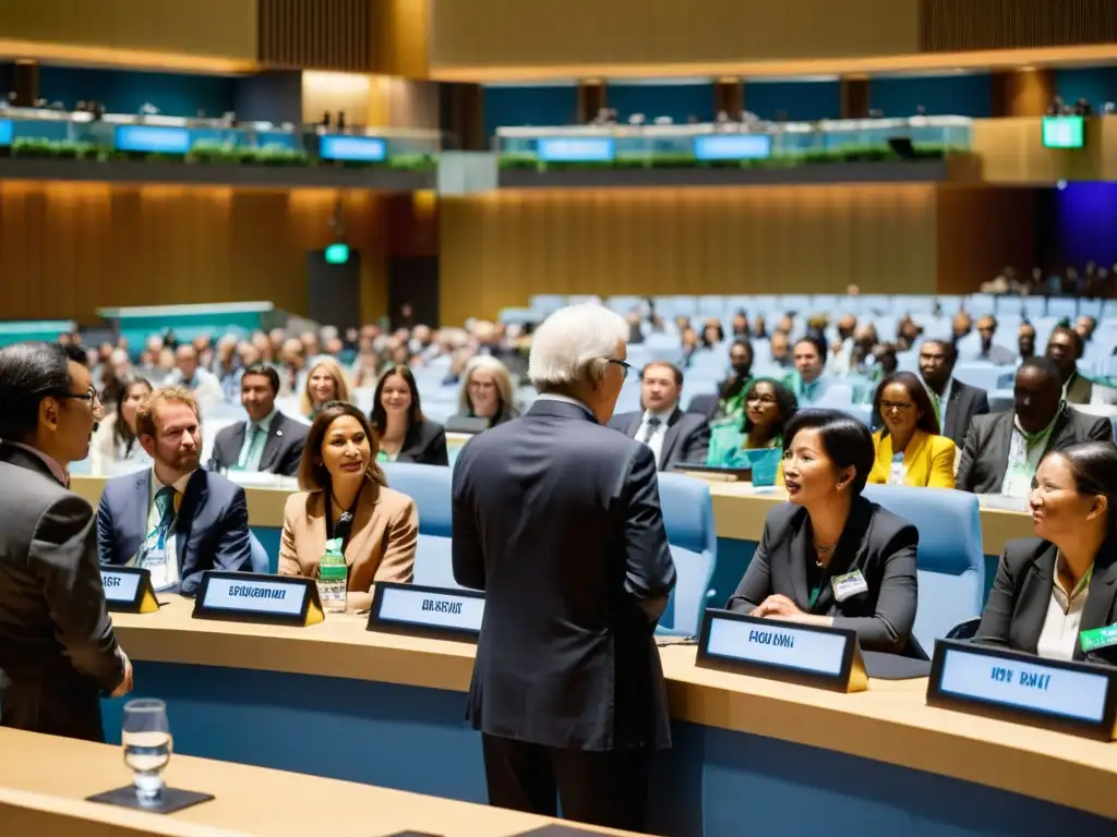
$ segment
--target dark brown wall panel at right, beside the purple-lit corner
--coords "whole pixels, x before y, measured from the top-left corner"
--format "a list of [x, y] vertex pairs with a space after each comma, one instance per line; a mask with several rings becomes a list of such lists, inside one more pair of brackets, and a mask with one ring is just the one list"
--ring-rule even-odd
[[973, 294], [1005, 266], [1035, 263], [1034, 189], [943, 186], [937, 204], [939, 294]]

